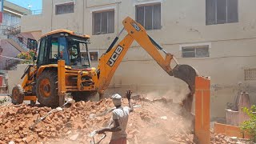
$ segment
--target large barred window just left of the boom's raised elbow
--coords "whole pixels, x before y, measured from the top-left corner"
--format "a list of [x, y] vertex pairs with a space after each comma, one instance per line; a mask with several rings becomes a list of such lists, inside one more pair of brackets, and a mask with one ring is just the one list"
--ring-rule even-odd
[[114, 33], [114, 10], [93, 13], [93, 34]]

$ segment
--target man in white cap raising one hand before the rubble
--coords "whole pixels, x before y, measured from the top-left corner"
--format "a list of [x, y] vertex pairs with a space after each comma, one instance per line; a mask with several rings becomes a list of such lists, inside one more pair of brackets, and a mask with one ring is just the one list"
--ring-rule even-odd
[[131, 90], [126, 91], [126, 98], [129, 102], [129, 107], [122, 107], [122, 97], [119, 94], [112, 95], [112, 102], [116, 107], [113, 110], [113, 121], [114, 125], [110, 127], [103, 128], [102, 130], [98, 130], [98, 134], [103, 134], [106, 131], [112, 132], [110, 144], [126, 144], [126, 126], [128, 122], [129, 113], [134, 110], [131, 102], [130, 95], [132, 94]]

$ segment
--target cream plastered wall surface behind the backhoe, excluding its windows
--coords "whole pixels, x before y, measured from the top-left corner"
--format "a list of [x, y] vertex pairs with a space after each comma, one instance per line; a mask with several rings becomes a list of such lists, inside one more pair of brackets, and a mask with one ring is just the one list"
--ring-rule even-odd
[[[55, 15], [55, 5], [70, 0], [43, 1], [43, 13], [38, 16], [22, 17], [22, 31], [69, 29], [90, 34], [90, 50], [103, 54], [116, 34], [122, 30], [122, 19], [135, 18], [135, 6], [147, 2], [161, 3], [161, 30], [148, 30], [166, 51], [175, 55], [181, 64], [194, 66], [199, 74], [211, 78], [211, 117], [225, 117], [227, 102], [234, 102], [238, 90], [246, 90], [251, 101], [256, 103], [254, 81], [245, 81], [244, 70], [255, 68], [256, 62], [256, 1], [238, 1], [238, 22], [206, 26], [205, 0], [76, 0], [74, 13]], [[92, 13], [114, 9], [114, 33], [92, 35]], [[32, 19], [38, 22], [31, 22]], [[121, 35], [124, 38], [126, 33]], [[210, 45], [210, 57], [182, 58], [183, 45]], [[97, 67], [98, 62], [93, 62]], [[239, 87], [238, 83], [242, 83]], [[126, 88], [135, 93], [176, 98], [187, 87], [176, 78], [166, 74], [136, 42], [128, 50], [108, 93], [124, 94]], [[151, 93], [150, 93], [151, 94]]]

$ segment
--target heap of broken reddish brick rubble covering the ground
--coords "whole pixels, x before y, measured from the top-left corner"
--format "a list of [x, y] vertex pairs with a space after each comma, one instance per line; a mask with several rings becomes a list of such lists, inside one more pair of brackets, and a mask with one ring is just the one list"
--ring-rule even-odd
[[[129, 117], [126, 132], [130, 144], [197, 143], [191, 133], [192, 119], [187, 117], [189, 114], [184, 114], [180, 105], [166, 98], [136, 97], [132, 101], [141, 107]], [[128, 101], [123, 99], [122, 105], [128, 106]], [[107, 111], [113, 107], [109, 98], [100, 102], [76, 102], [70, 108], [50, 114], [30, 130], [29, 126], [52, 109], [26, 104], [0, 106], [0, 143], [90, 143], [91, 132], [109, 125], [112, 114]], [[110, 142], [111, 134], [106, 134], [102, 144]], [[101, 137], [97, 134], [95, 142]], [[231, 141], [240, 142], [239, 139], [211, 134], [211, 143]]]

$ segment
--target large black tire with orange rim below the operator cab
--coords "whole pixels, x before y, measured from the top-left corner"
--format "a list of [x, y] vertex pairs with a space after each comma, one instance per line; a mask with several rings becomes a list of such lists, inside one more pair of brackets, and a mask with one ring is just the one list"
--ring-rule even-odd
[[59, 106], [58, 74], [55, 70], [45, 70], [37, 80], [37, 98], [43, 106]]

